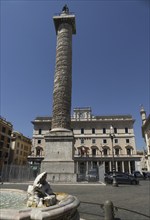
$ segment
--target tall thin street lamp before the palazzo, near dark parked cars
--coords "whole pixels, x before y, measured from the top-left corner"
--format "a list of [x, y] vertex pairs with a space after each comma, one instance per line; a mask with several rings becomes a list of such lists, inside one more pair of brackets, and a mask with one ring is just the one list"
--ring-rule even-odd
[[112, 182], [112, 186], [117, 187], [118, 183], [116, 180], [116, 167], [115, 167], [115, 160], [114, 160], [114, 147], [113, 147], [113, 140], [114, 140], [114, 128], [111, 125], [110, 126], [110, 138], [111, 138], [111, 144], [112, 144], [112, 169], [113, 169], [113, 182]]

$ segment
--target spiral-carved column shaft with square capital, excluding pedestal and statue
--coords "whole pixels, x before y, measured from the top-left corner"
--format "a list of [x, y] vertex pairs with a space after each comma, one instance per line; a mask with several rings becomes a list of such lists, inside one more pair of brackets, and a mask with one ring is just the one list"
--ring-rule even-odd
[[[70, 20], [71, 19], [71, 20]], [[56, 66], [53, 90], [52, 129], [70, 129], [72, 93], [73, 17], [62, 13], [54, 17], [57, 34]]]

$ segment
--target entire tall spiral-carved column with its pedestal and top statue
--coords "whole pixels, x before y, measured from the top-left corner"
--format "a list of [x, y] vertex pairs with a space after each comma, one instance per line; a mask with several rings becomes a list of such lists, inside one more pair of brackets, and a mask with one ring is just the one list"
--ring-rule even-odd
[[75, 15], [65, 5], [53, 17], [57, 35], [53, 90], [52, 127], [45, 135], [45, 158], [41, 170], [53, 182], [75, 182], [74, 136], [70, 130], [72, 91], [72, 35], [76, 33]]

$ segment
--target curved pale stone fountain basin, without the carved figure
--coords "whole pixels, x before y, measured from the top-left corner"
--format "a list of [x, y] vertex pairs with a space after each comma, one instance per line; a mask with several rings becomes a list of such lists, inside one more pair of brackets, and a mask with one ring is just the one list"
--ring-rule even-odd
[[[12, 205], [8, 204], [7, 208], [1, 207], [0, 219], [1, 220], [79, 220], [78, 206], [80, 201], [72, 195], [65, 193], [56, 193], [56, 198], [58, 200], [56, 205], [49, 206], [46, 208], [26, 208], [26, 192], [22, 190], [15, 189], [1, 189], [0, 194], [9, 194], [12, 196], [20, 195], [21, 200], [18, 199], [19, 205], [17, 202], [15, 208], [11, 207]], [[7, 196], [6, 195], [6, 196]], [[18, 198], [19, 196], [17, 196]], [[21, 206], [23, 203], [23, 206]], [[9, 208], [10, 207], [10, 208]]]

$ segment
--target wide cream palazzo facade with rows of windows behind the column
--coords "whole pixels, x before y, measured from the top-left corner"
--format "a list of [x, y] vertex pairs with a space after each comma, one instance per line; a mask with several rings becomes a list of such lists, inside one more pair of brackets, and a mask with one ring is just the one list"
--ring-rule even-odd
[[[44, 135], [51, 130], [51, 117], [36, 117], [33, 123], [31, 164], [44, 159]], [[90, 107], [75, 108], [71, 117], [74, 133], [75, 173], [87, 174], [104, 164], [105, 172], [112, 171], [114, 157], [116, 171], [132, 173], [140, 156], [136, 153], [134, 119], [131, 115], [93, 116]], [[113, 143], [110, 126], [114, 128]]]

